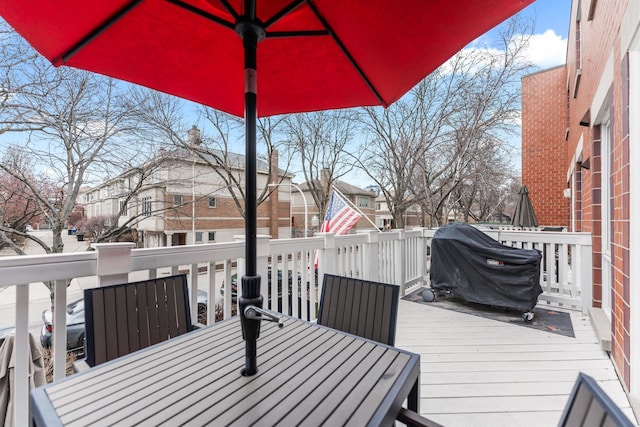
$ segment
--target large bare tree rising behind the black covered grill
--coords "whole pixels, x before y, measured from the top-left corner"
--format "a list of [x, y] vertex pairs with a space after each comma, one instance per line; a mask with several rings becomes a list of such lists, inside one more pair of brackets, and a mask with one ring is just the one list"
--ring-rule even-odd
[[416, 204], [423, 225], [441, 225], [461, 209], [466, 183], [489, 182], [504, 167], [494, 160], [509, 156], [505, 140], [518, 127], [531, 30], [531, 22], [513, 18], [502, 27], [501, 47], [465, 49], [389, 109], [366, 109], [360, 163], [382, 189], [396, 226]]

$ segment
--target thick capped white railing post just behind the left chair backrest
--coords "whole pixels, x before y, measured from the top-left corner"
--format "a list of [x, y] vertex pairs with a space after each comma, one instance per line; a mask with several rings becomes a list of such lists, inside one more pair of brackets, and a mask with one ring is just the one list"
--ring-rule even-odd
[[135, 243], [94, 243], [98, 255], [98, 286], [116, 285], [129, 281], [131, 249]]

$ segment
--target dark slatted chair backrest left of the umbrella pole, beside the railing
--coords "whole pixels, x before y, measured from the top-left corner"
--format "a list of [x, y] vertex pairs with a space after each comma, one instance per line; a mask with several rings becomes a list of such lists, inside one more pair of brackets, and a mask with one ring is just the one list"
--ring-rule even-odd
[[193, 329], [185, 274], [85, 289], [84, 306], [89, 366]]

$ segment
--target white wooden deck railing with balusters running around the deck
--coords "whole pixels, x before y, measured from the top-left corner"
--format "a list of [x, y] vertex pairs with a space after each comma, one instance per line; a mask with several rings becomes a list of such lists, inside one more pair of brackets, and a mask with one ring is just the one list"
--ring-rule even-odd
[[[435, 230], [394, 230], [390, 232], [364, 232], [345, 236], [324, 234], [306, 239], [269, 240], [258, 238], [258, 273], [263, 277], [262, 294], [267, 300], [266, 278], [269, 268], [273, 277], [282, 272], [282, 286], [277, 280], [271, 283], [271, 300], [265, 305], [278, 307], [281, 293], [282, 311], [313, 320], [320, 295], [315, 283], [325, 272], [360, 277], [363, 279], [394, 283], [406, 289], [428, 283], [430, 244]], [[537, 248], [543, 252], [541, 285], [544, 294], [540, 301], [582, 310], [591, 305], [591, 237], [587, 233], [547, 233], [525, 231], [488, 231], [487, 234], [505, 244]], [[230, 284], [233, 275], [244, 273], [244, 241], [133, 249], [131, 243], [95, 245], [95, 252], [57, 255], [29, 255], [0, 258], [0, 286], [15, 287], [15, 419], [17, 425], [26, 425], [29, 418], [29, 366], [28, 333], [30, 291], [34, 286], [42, 288], [42, 282], [54, 285], [54, 307], [67, 304], [67, 286], [83, 281], [88, 286], [100, 286], [127, 281], [155, 278], [163, 274], [186, 271], [189, 289], [197, 286], [208, 293], [207, 319], [215, 321], [216, 303], [222, 308], [224, 318], [232, 313], [230, 286], [220, 296], [222, 283]], [[287, 273], [285, 273], [287, 272]], [[289, 274], [289, 272], [291, 274]], [[288, 276], [292, 282], [307, 283], [291, 286], [289, 296]], [[321, 279], [320, 279], [321, 280]], [[238, 286], [240, 289], [240, 286]], [[197, 316], [197, 293], [190, 292], [192, 317]], [[293, 302], [299, 301], [298, 304]], [[291, 307], [289, 307], [291, 305]], [[308, 307], [307, 310], [304, 310]], [[66, 318], [65, 310], [54, 310], [53, 368], [54, 378], [65, 375]]]

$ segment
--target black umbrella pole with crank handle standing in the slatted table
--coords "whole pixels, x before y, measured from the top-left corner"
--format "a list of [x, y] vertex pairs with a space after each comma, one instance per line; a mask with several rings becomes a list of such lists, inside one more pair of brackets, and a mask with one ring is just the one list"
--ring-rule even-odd
[[242, 277], [242, 295], [238, 300], [242, 336], [245, 340], [245, 367], [243, 376], [258, 372], [257, 340], [260, 335], [260, 317], [247, 316], [249, 306], [262, 308], [260, 295], [260, 276], [257, 272], [257, 154], [256, 154], [256, 58], [258, 32], [253, 25], [244, 24], [238, 28], [243, 38], [245, 65], [245, 262], [246, 273]]

